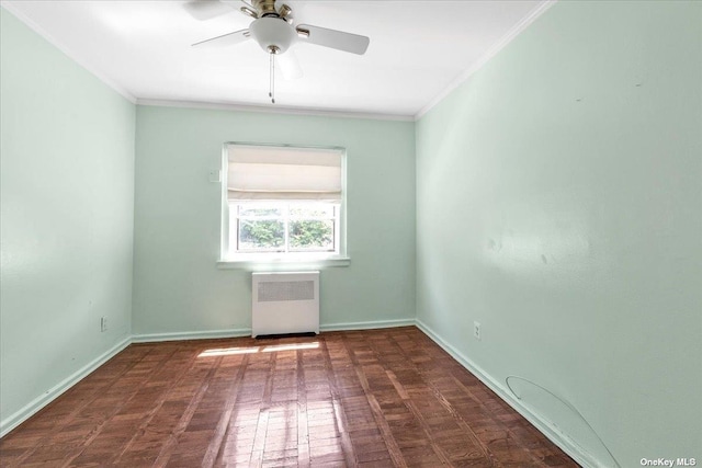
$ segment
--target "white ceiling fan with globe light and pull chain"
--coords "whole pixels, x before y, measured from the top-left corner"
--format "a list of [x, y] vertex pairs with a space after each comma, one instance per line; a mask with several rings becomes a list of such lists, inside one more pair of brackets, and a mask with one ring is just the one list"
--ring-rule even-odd
[[302, 77], [299, 64], [292, 50], [288, 50], [296, 42], [306, 42], [358, 55], [365, 54], [371, 42], [366, 36], [310, 24], [293, 26], [293, 10], [286, 4], [276, 5], [275, 0], [251, 0], [250, 3], [245, 0], [191, 0], [184, 7], [195, 19], [201, 21], [230, 12], [231, 9], [253, 19], [246, 30], [211, 37], [193, 44], [193, 47], [230, 46], [251, 38], [256, 41], [270, 55], [269, 96], [272, 103], [275, 103], [276, 61], [285, 78]]

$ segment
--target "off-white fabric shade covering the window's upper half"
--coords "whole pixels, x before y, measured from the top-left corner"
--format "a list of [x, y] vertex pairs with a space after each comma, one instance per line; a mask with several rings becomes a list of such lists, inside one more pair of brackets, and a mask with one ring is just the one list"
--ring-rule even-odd
[[227, 198], [341, 202], [341, 151], [230, 145]]

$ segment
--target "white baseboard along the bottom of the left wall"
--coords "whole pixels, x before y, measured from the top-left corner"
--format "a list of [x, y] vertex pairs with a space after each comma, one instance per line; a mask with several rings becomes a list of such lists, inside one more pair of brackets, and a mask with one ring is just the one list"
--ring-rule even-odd
[[127, 336], [122, 340], [120, 343], [114, 345], [112, 349], [107, 350], [90, 363], [86, 364], [80, 369], [76, 370], [70, 376], [66, 377], [64, 380], [49, 388], [43, 395], [36, 397], [34, 400], [30, 401], [24, 408], [15, 411], [13, 414], [10, 414], [4, 420], [0, 421], [0, 437], [4, 437], [10, 431], [22, 424], [24, 421], [34, 415], [42, 408], [46, 407], [48, 403], [60, 397], [66, 390], [71, 388], [73, 385], [78, 384], [80, 380], [86, 378], [90, 373], [95, 370], [98, 367], [110, 361], [122, 350], [127, 347], [132, 343], [132, 338]]

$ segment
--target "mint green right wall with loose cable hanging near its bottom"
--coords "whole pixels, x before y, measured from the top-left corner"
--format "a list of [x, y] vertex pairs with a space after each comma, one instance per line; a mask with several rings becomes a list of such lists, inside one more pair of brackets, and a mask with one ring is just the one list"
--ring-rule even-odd
[[556, 3], [418, 122], [417, 232], [418, 319], [489, 380], [699, 464], [702, 2]]

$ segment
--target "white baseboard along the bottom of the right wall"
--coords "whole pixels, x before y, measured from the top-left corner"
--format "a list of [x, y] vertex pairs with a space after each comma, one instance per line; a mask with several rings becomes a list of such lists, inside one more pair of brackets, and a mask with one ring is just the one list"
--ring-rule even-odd
[[512, 393], [499, 381], [495, 380], [492, 376], [483, 370], [480, 366], [463, 355], [458, 350], [453, 347], [446, 341], [444, 341], [437, 332], [429, 328], [424, 322], [417, 319], [415, 324], [419, 330], [424, 332], [434, 343], [441, 346], [446, 353], [456, 359], [463, 367], [468, 369], [471, 374], [476, 376], [483, 384], [485, 384], [490, 390], [497, 393], [507, 404], [512, 407], [514, 411], [520, 413], [526, 421], [529, 421], [534, 427], [545, 435], [551, 442], [556, 444], [563, 452], [568, 454], [578, 465], [582, 467], [600, 467], [603, 466], [592, 460], [592, 457], [584, 453], [577, 445], [574, 445], [564, 434], [553, 426], [552, 423], [543, 419], [540, 414], [536, 414], [525, 408]]

